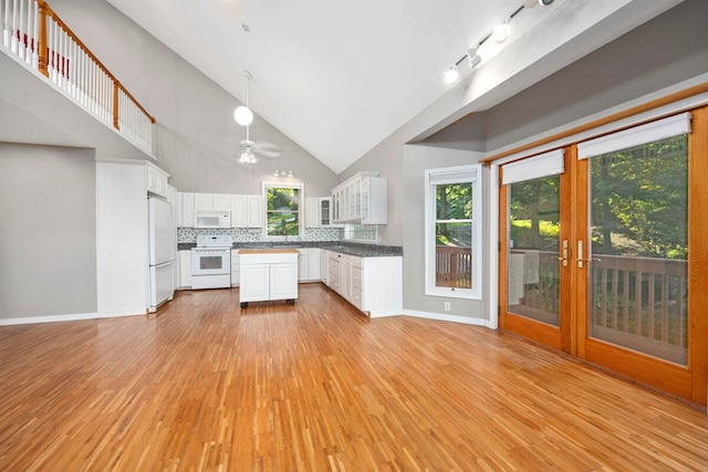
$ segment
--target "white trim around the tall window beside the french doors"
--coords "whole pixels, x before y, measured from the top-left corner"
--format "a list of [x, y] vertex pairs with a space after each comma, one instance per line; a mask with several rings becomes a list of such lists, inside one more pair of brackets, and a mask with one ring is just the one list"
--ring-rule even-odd
[[[471, 199], [471, 289], [437, 285], [436, 274], [436, 186], [466, 183], [472, 186]], [[482, 298], [482, 166], [447, 167], [425, 171], [425, 294], [455, 298]], [[468, 221], [468, 220], [465, 220]]]

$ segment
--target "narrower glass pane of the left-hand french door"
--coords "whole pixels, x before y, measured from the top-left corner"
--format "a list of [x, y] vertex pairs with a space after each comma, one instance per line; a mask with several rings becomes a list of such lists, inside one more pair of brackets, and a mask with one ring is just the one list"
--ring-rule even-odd
[[508, 311], [559, 326], [560, 177], [509, 185]]

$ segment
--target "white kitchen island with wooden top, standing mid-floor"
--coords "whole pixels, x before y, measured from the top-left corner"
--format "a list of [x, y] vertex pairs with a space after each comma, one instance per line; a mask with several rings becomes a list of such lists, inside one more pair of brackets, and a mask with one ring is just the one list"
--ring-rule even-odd
[[298, 298], [296, 250], [240, 250], [241, 308], [249, 302]]

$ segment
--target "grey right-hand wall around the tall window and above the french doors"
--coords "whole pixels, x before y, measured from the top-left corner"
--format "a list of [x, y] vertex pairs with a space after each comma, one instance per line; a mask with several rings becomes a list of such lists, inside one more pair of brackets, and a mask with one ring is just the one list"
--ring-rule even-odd
[[[708, 29], [701, 25], [705, 18], [708, 18], [708, 2], [686, 0], [491, 109], [458, 119], [417, 144], [487, 153], [511, 148], [694, 80], [708, 73]], [[457, 96], [459, 106], [464, 106], [466, 96]], [[409, 311], [444, 314], [441, 302], [431, 302], [423, 295], [420, 182], [425, 168], [442, 167], [440, 164], [447, 160], [435, 151], [404, 150], [406, 144], [415, 143], [414, 136], [419, 134], [421, 124], [437, 119], [441, 106], [434, 105], [404, 124], [342, 176], [371, 170], [388, 178], [389, 223], [381, 234], [385, 244], [404, 245], [404, 306]], [[496, 274], [488, 273], [488, 276], [496, 277]], [[492, 301], [483, 302], [487, 311], [492, 310], [489, 308]], [[479, 316], [477, 307], [464, 305], [464, 310], [468, 316]]]

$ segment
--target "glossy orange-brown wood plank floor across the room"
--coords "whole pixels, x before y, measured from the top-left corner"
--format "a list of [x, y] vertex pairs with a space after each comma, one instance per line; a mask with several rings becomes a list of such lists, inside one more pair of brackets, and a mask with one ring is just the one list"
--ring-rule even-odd
[[699, 471], [708, 416], [514, 337], [181, 292], [0, 327], [0, 470]]

